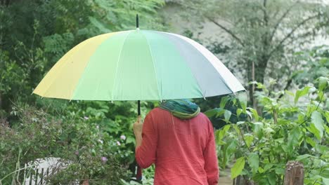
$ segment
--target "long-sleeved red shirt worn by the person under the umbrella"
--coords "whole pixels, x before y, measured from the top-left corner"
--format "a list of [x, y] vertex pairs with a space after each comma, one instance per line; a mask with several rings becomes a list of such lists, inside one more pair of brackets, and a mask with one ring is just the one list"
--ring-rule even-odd
[[182, 120], [155, 108], [145, 118], [142, 137], [136, 161], [142, 168], [155, 163], [155, 185], [218, 184], [214, 129], [205, 114]]

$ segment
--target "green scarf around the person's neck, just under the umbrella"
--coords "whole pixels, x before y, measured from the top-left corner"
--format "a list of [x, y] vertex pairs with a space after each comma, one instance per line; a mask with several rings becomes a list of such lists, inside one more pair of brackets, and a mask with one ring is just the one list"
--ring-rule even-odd
[[170, 111], [175, 117], [189, 119], [198, 116], [200, 107], [188, 100], [167, 100], [160, 104], [160, 108]]

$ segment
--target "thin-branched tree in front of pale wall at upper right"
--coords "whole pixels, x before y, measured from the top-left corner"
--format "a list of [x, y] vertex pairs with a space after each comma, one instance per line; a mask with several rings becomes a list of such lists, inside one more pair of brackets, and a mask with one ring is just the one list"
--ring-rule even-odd
[[[189, 18], [212, 22], [226, 33], [231, 50], [224, 54], [236, 60], [228, 66], [260, 83], [287, 78], [298, 66], [291, 54], [321, 35], [329, 22], [328, 6], [317, 1], [185, 0], [181, 6], [190, 10]], [[251, 103], [253, 91], [250, 85]]]

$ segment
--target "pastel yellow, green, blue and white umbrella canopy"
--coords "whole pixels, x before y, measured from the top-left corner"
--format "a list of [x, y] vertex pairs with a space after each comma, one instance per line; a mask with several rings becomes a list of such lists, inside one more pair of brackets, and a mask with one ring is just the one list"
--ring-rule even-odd
[[245, 90], [199, 43], [129, 30], [87, 39], [66, 53], [33, 93], [67, 100], [172, 100]]

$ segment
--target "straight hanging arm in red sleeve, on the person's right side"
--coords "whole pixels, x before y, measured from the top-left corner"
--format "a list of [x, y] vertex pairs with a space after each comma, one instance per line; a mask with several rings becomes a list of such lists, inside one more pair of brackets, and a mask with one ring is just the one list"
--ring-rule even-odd
[[217, 185], [219, 179], [218, 160], [216, 153], [216, 144], [214, 141], [214, 128], [208, 120], [209, 137], [203, 157], [205, 158], [205, 171], [207, 172], [207, 180], [209, 185]]

